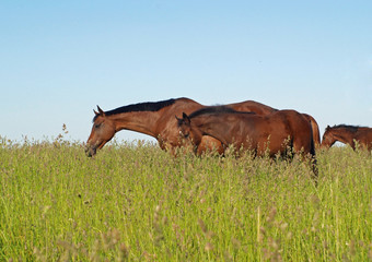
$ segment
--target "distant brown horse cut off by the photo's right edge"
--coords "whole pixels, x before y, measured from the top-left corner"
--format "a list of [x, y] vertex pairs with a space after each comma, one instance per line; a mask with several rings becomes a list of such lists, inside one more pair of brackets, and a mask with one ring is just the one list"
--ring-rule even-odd
[[336, 141], [349, 144], [356, 150], [356, 141], [367, 150], [372, 150], [372, 128], [348, 124], [327, 126], [323, 134], [322, 147], [330, 147]]

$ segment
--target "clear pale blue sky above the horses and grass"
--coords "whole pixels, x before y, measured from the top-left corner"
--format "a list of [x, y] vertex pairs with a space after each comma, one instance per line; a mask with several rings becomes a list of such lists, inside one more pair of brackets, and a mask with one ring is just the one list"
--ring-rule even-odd
[[86, 141], [96, 105], [177, 97], [297, 109], [321, 134], [372, 127], [371, 14], [368, 0], [1, 1], [0, 135], [66, 123]]

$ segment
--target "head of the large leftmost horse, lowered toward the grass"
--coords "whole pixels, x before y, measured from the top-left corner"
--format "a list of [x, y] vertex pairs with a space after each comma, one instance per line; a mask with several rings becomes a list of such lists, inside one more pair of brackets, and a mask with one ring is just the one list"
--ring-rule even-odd
[[95, 155], [96, 150], [101, 150], [115, 134], [114, 122], [106, 117], [105, 112], [97, 106], [98, 111], [94, 111], [93, 127], [86, 141], [85, 153], [89, 157]]

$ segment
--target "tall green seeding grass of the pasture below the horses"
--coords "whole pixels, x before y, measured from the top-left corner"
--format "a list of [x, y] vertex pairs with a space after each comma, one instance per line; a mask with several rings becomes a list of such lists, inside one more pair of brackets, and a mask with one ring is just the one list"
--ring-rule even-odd
[[0, 139], [0, 261], [371, 261], [372, 157]]

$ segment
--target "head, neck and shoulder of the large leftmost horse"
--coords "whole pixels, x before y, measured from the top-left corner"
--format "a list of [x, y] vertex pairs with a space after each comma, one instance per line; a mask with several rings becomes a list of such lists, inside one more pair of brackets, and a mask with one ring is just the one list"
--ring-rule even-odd
[[188, 98], [140, 103], [109, 111], [94, 111], [92, 132], [86, 142], [86, 153], [92, 156], [120, 130], [131, 130], [155, 138], [161, 148], [178, 145], [174, 114], [191, 112], [202, 105]]

